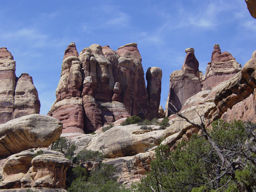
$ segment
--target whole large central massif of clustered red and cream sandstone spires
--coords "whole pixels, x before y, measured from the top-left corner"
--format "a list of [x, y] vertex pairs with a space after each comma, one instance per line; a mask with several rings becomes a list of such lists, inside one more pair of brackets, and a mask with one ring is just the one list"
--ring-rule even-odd
[[48, 115], [63, 123], [63, 133], [79, 134], [94, 132], [131, 115], [148, 118], [151, 110], [157, 117], [161, 75], [151, 79], [158, 79], [155, 84], [160, 90], [150, 101], [156, 102], [156, 106], [149, 109], [137, 44], [126, 44], [116, 52], [109, 46], [92, 44], [78, 55], [76, 45], [71, 43], [62, 62], [57, 99]]

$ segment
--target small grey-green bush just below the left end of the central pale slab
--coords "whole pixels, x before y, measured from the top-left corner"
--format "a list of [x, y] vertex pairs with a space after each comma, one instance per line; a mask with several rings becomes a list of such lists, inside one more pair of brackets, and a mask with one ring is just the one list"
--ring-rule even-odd
[[103, 158], [104, 158], [104, 155], [99, 151], [84, 149], [79, 151], [77, 156], [73, 159], [73, 163], [84, 165], [85, 163], [88, 163], [90, 161], [101, 162]]

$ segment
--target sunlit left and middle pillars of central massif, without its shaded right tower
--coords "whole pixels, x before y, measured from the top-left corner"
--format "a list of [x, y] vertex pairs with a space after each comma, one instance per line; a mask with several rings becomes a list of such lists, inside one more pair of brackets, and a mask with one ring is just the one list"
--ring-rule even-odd
[[[65, 51], [56, 89], [57, 100], [49, 112], [50, 116], [62, 121], [63, 133], [94, 132], [104, 124], [130, 117], [120, 102], [113, 66], [105, 58], [102, 47], [92, 44], [78, 57], [75, 48], [71, 43]], [[109, 53], [110, 59], [113, 52]], [[119, 57], [117, 53], [114, 56]], [[117, 63], [117, 59], [115, 61]]]

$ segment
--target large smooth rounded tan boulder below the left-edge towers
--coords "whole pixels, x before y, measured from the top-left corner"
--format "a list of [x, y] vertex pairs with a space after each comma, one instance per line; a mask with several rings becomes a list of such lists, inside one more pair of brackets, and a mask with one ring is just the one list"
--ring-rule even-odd
[[38, 147], [48, 147], [61, 134], [62, 123], [52, 117], [32, 114], [0, 125], [0, 156]]

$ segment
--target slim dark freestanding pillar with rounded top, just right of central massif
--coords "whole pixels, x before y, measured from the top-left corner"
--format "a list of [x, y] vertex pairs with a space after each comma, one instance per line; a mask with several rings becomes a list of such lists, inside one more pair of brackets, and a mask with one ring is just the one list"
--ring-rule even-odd
[[147, 92], [149, 101], [148, 119], [158, 117], [158, 110], [161, 99], [162, 70], [158, 67], [150, 67], [146, 73]]

